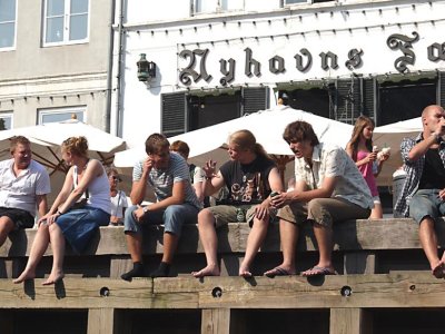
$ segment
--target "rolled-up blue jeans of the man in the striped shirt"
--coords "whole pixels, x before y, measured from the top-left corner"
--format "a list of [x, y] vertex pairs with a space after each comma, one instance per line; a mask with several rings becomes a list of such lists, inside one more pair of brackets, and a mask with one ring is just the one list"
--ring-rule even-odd
[[123, 232], [142, 233], [141, 224], [164, 224], [164, 232], [171, 233], [178, 237], [184, 224], [196, 224], [199, 209], [190, 204], [170, 205], [164, 210], [148, 212], [141, 223], [137, 222], [132, 213], [138, 209], [131, 206], [126, 209], [123, 218]]

